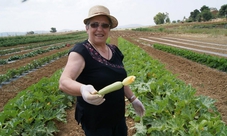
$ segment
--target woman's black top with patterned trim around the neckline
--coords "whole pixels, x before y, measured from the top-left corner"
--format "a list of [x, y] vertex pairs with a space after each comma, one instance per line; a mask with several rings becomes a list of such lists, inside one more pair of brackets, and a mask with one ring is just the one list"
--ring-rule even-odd
[[[85, 40], [76, 44], [70, 52], [79, 53], [85, 60], [85, 68], [76, 79], [83, 84], [91, 84], [96, 90], [126, 78], [127, 73], [123, 65], [123, 54], [115, 45], [107, 44], [112, 51], [110, 60], [102, 57], [94, 47]], [[106, 94], [105, 102], [101, 105], [91, 105], [77, 96], [75, 118], [86, 128], [97, 129], [111, 127], [118, 123], [125, 115], [125, 100], [123, 87], [115, 92]]]

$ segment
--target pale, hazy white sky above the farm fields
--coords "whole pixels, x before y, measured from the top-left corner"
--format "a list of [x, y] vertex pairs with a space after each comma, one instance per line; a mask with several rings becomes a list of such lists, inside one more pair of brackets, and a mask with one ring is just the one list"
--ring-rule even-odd
[[0, 0], [0, 32], [85, 30], [92, 6], [103, 5], [118, 19], [118, 27], [152, 26], [154, 16], [169, 13], [170, 21], [188, 18], [203, 5], [218, 10], [226, 0]]

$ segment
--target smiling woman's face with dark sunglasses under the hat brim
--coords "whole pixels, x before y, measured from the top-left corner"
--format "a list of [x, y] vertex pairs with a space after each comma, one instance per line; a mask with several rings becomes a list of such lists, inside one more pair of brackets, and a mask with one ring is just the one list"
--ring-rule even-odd
[[107, 16], [96, 16], [86, 26], [88, 39], [94, 44], [104, 44], [109, 36], [110, 22]]

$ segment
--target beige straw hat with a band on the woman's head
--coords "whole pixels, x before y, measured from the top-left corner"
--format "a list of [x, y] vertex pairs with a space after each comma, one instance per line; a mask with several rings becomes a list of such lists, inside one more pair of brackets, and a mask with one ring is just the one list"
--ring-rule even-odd
[[84, 24], [87, 23], [87, 21], [95, 16], [100, 16], [100, 15], [105, 15], [107, 17], [109, 17], [112, 25], [111, 25], [111, 29], [117, 27], [118, 25], [118, 21], [114, 16], [110, 15], [110, 11], [108, 8], [101, 6], [101, 5], [96, 5], [94, 7], [91, 7], [88, 13], [88, 17], [84, 19]]

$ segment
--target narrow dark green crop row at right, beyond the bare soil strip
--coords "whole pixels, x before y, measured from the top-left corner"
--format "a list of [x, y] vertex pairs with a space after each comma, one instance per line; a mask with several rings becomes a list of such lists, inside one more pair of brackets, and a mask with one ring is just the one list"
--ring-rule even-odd
[[162, 44], [154, 44], [153, 47], [168, 53], [172, 53], [174, 55], [184, 57], [186, 59], [195, 61], [197, 63], [206, 65], [208, 67], [215, 68], [223, 72], [227, 72], [226, 58], [220, 58], [220, 57], [211, 56], [207, 54], [196, 53], [190, 50], [175, 48], [175, 47], [162, 45]]

